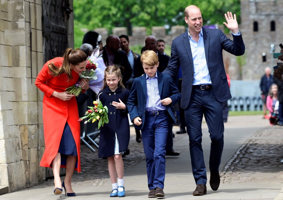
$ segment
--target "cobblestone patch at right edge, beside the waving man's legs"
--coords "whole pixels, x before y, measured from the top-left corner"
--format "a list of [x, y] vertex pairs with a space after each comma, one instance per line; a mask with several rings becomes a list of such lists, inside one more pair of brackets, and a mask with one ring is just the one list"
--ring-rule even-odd
[[[268, 138], [268, 139], [267, 139]], [[223, 183], [282, 182], [282, 126], [259, 129], [227, 162], [220, 173]]]

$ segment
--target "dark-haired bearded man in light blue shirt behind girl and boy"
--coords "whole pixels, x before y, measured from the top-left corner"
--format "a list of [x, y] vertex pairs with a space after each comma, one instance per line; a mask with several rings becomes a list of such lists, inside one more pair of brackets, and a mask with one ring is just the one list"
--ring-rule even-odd
[[[136, 62], [136, 60], [139, 58], [140, 55], [133, 52], [129, 48], [130, 41], [129, 41], [129, 37], [127, 35], [120, 35], [119, 38], [120, 38], [120, 42], [121, 42], [120, 43], [121, 49], [124, 52], [126, 52], [126, 54], [128, 56], [129, 63], [131, 65], [132, 69], [133, 69], [133, 73], [132, 73], [131, 78], [126, 82], [126, 88], [131, 90], [132, 85], [133, 85], [133, 80], [134, 80], [134, 78], [136, 78], [134, 76], [134, 63]], [[135, 128], [135, 132], [136, 132], [136, 141], [138, 143], [142, 142], [142, 135], [141, 135], [140, 130]]]

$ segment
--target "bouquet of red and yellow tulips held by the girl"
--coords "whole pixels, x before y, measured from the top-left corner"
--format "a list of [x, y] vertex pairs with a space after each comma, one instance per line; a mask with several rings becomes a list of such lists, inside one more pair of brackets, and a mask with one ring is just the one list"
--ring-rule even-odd
[[98, 99], [96, 101], [93, 101], [94, 107], [88, 106], [89, 110], [85, 112], [84, 117], [81, 117], [78, 122], [83, 121], [86, 118], [89, 118], [87, 121], [84, 122], [84, 124], [88, 122], [98, 122], [98, 129], [100, 129], [101, 126], [103, 126], [105, 123], [108, 124], [108, 108], [106, 106], [103, 106], [101, 101]]

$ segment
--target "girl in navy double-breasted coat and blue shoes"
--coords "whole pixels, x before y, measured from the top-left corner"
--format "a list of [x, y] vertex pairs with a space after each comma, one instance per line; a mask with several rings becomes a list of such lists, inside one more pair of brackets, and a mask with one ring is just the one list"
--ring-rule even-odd
[[108, 107], [109, 123], [100, 128], [98, 157], [108, 157], [108, 170], [112, 182], [110, 197], [124, 197], [122, 154], [127, 150], [130, 141], [126, 104], [130, 91], [124, 87], [121, 71], [116, 65], [106, 67], [104, 74], [104, 87], [98, 97], [101, 103]]

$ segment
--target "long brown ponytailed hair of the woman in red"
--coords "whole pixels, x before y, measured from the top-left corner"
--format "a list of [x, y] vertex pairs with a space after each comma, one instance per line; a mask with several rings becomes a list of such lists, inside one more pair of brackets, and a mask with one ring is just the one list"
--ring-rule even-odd
[[87, 55], [80, 49], [71, 49], [67, 48], [63, 55], [63, 65], [62, 67], [56, 67], [53, 62], [48, 63], [48, 73], [52, 76], [59, 76], [60, 74], [65, 73], [68, 77], [68, 81], [73, 79], [72, 69], [69, 64], [78, 65], [83, 61], [87, 60]]

